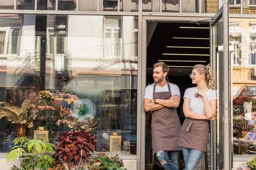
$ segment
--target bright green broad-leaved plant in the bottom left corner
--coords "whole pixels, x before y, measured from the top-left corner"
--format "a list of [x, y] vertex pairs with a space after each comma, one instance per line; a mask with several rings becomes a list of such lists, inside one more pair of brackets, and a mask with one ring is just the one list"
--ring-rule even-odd
[[50, 144], [49, 141], [43, 139], [28, 139], [25, 136], [16, 138], [13, 142], [15, 143], [15, 146], [12, 147], [11, 151], [8, 153], [7, 161], [10, 161], [12, 158], [16, 161], [19, 156], [22, 158], [22, 163], [20, 164], [21, 170], [48, 170], [52, 164], [55, 164], [55, 161], [51, 156], [38, 156], [38, 154], [44, 154], [46, 151], [53, 153], [55, 145]]

